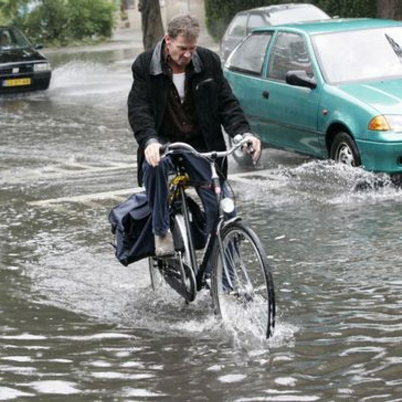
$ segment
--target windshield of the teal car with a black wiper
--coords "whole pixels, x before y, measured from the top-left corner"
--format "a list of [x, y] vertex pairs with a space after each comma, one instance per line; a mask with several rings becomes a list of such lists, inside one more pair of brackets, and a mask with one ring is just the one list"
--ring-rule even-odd
[[402, 27], [317, 34], [312, 41], [329, 83], [402, 77]]

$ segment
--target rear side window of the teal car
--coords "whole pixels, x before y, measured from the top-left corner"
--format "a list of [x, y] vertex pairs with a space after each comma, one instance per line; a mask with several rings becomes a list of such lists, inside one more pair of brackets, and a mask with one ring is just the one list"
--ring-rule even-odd
[[228, 59], [228, 68], [260, 75], [265, 52], [271, 38], [271, 32], [255, 33], [248, 36]]

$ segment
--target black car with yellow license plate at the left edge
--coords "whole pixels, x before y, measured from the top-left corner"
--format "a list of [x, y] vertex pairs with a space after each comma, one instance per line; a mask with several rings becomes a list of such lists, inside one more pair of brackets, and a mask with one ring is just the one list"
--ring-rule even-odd
[[47, 89], [48, 60], [17, 28], [0, 27], [0, 93]]

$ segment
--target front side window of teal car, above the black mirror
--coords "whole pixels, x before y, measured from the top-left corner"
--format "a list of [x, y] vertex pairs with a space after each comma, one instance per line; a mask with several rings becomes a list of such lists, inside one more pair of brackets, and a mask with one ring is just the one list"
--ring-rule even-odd
[[310, 55], [301, 35], [279, 32], [268, 61], [267, 76], [284, 81], [291, 70], [304, 70], [309, 77], [314, 76]]

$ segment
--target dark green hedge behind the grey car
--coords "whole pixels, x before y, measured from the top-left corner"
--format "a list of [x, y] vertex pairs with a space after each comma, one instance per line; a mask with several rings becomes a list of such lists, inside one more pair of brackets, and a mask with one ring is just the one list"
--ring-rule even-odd
[[[290, 3], [286, 0], [205, 0], [206, 26], [215, 40], [220, 40], [236, 13], [254, 7]], [[312, 2], [293, 1], [292, 3], [313, 3], [330, 16], [376, 17], [376, 2], [373, 0], [316, 0]], [[400, 7], [400, 6], [399, 6]]]

